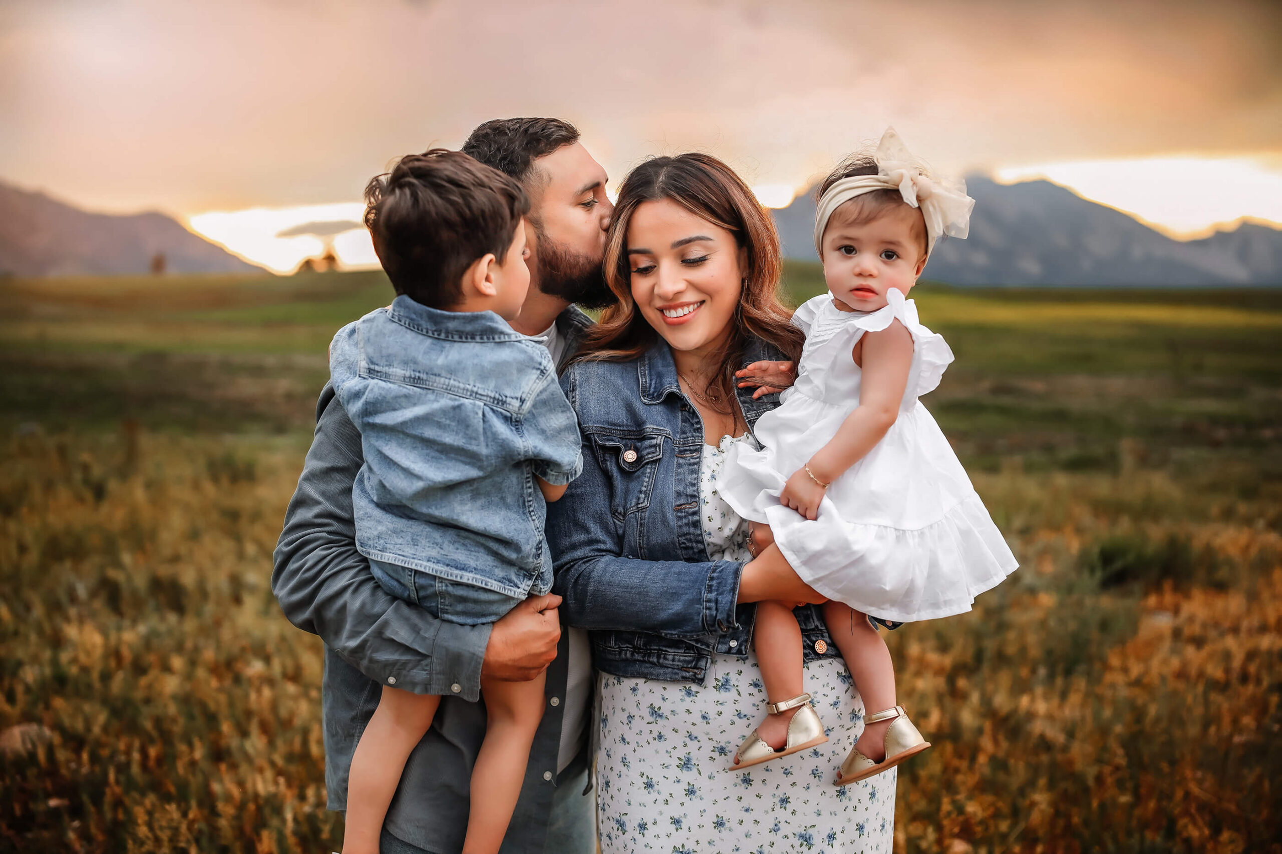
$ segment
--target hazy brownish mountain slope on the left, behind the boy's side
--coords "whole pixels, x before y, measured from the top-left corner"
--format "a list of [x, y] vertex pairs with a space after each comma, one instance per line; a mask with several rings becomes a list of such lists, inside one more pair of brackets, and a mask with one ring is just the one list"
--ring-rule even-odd
[[164, 214], [91, 214], [0, 183], [0, 275], [262, 273]]

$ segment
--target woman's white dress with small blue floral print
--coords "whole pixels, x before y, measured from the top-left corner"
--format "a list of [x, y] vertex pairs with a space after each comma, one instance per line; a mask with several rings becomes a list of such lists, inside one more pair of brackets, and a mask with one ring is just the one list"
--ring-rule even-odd
[[[747, 524], [717, 492], [727, 449], [745, 439], [704, 446], [699, 493], [712, 560], [749, 560]], [[864, 705], [850, 671], [840, 658], [812, 662], [805, 686], [828, 743], [737, 771], [735, 750], [767, 702], [755, 654], [713, 656], [704, 685], [603, 673], [596, 758], [603, 854], [890, 854], [896, 772], [832, 785], [863, 730]]]

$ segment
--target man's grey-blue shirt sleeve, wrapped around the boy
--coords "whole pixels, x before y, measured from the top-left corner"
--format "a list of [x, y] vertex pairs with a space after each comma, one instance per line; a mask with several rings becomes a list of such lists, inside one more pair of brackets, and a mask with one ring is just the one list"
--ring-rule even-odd
[[490, 626], [437, 620], [378, 585], [356, 551], [353, 522], [360, 433], [328, 385], [317, 408], [315, 435], [274, 553], [272, 592], [281, 609], [377, 682], [476, 700]]

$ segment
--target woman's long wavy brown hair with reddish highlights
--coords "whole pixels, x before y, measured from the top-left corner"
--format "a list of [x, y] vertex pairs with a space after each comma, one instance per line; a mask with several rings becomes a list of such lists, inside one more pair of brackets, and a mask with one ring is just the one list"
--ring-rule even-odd
[[729, 407], [735, 392], [735, 371], [742, 361], [750, 338], [773, 344], [787, 359], [801, 353], [804, 335], [791, 323], [792, 312], [779, 300], [779, 236], [774, 222], [738, 175], [717, 157], [682, 154], [654, 157], [633, 169], [619, 188], [614, 218], [605, 245], [605, 280], [618, 302], [601, 312], [578, 351], [578, 360], [631, 361], [655, 342], [659, 333], [637, 311], [632, 300], [632, 273], [628, 265], [627, 236], [632, 214], [642, 202], [668, 200], [695, 216], [719, 225], [735, 236], [746, 250], [744, 291], [740, 294], [731, 334], [713, 356], [719, 369], [708, 391]]

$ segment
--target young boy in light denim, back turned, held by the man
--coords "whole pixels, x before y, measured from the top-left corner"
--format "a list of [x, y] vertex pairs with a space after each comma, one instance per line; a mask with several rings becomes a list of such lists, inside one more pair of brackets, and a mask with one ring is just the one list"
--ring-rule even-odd
[[[392, 595], [490, 624], [551, 589], [545, 501], [582, 469], [547, 350], [514, 332], [529, 287], [514, 179], [444, 149], [365, 188], [365, 225], [397, 297], [338, 330], [329, 371], [360, 430], [356, 548]], [[388, 680], [391, 682], [392, 680]], [[544, 677], [485, 680], [465, 854], [499, 850], [544, 709]], [[344, 854], [377, 854], [383, 817], [438, 697], [385, 685], [356, 746]]]

